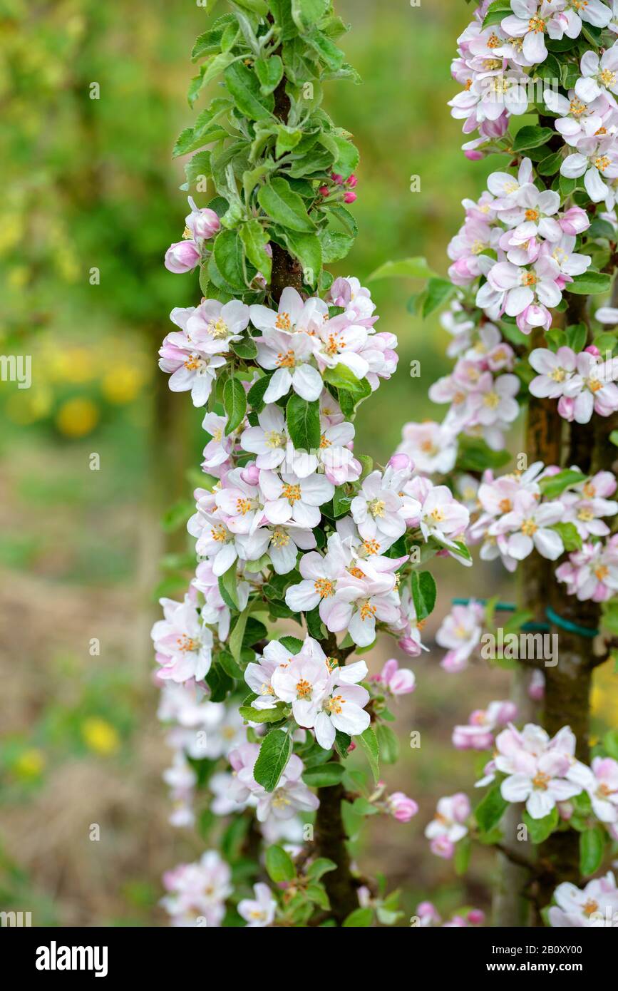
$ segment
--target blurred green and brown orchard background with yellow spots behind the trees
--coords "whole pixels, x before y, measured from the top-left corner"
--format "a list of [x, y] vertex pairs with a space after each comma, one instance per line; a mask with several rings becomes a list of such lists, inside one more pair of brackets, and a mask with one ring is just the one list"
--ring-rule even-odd
[[[460, 201], [480, 193], [492, 167], [464, 159], [446, 105], [469, 7], [336, 6], [352, 22], [343, 47], [363, 80], [327, 90], [330, 113], [361, 149], [361, 234], [336, 274], [364, 280], [415, 255], [444, 274]], [[194, 0], [133, 0], [130, 10], [0, 0], [0, 353], [32, 355], [33, 375], [28, 389], [0, 383], [0, 909], [32, 911], [34, 925], [165, 925], [160, 875], [203, 846], [167, 822], [149, 632], [157, 597], [181, 591], [176, 565], [203, 447], [202, 413], [168, 391], [156, 351], [171, 307], [199, 295], [196, 278], [166, 272], [162, 257], [187, 212], [170, 154], [195, 116], [189, 53], [206, 26]], [[420, 192], [410, 192], [412, 175]], [[448, 370], [447, 335], [437, 317], [423, 323], [406, 310], [418, 287], [371, 283], [378, 329], [400, 342], [396, 376], [358, 418], [358, 449], [381, 462], [406, 419], [443, 414], [426, 393]], [[409, 377], [413, 359], [420, 379]], [[440, 561], [435, 573], [428, 644], [451, 597], [472, 591], [459, 566]], [[500, 587], [514, 595], [501, 571], [474, 570], [474, 595]], [[388, 656], [380, 644], [371, 669]], [[359, 851], [389, 890], [405, 889], [408, 915], [428, 897], [445, 915], [486, 909], [493, 870], [475, 854], [457, 878], [429, 854], [423, 828], [440, 795], [469, 792], [474, 780], [473, 760], [450, 746], [453, 726], [504, 698], [508, 678], [480, 667], [449, 676], [440, 657], [435, 648], [413, 663], [417, 690], [397, 708], [402, 756], [384, 769], [389, 790], [421, 811], [408, 825], [372, 821]], [[601, 722], [615, 721], [618, 699], [598, 686], [596, 708]], [[412, 729], [420, 750], [407, 746]]]

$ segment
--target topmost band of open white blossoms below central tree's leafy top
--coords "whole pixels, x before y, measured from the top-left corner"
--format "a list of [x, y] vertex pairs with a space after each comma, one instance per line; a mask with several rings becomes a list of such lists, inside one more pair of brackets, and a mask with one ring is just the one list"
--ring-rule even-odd
[[276, 311], [237, 299], [227, 303], [204, 299], [199, 306], [173, 309], [170, 319], [180, 329], [165, 337], [159, 368], [169, 374], [173, 391], [191, 392], [196, 406], [208, 401], [217, 370], [234, 367], [237, 355], [247, 353], [235, 349], [241, 344], [268, 374], [262, 392], [266, 404], [290, 392], [309, 402], [319, 399], [327, 371], [352, 375], [353, 382], [364, 381], [374, 390], [397, 367], [397, 339], [375, 332], [374, 304], [368, 290], [357, 289], [357, 281], [336, 279], [330, 298], [338, 303], [331, 305], [319, 296], [303, 300], [289, 286]]

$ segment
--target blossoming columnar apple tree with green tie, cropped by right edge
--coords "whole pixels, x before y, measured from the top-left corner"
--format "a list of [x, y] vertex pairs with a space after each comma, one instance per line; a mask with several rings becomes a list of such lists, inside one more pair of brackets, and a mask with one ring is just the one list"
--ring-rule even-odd
[[[473, 812], [443, 798], [426, 834], [461, 872], [471, 840], [500, 850], [497, 925], [616, 928], [614, 875], [593, 875], [618, 840], [618, 731], [592, 748], [588, 733], [592, 674], [618, 633], [616, 296], [602, 305], [618, 264], [618, 20], [600, 0], [475, 7], [452, 112], [465, 156], [502, 162], [464, 200], [449, 279], [415, 297], [424, 315], [448, 303], [455, 367], [430, 389], [446, 417], [408, 424], [401, 450], [463, 498], [479, 558], [523, 581], [517, 611], [464, 594], [438, 631], [447, 671], [493, 658], [514, 693], [455, 727], [456, 747], [489, 751], [484, 794]], [[499, 474], [522, 406], [523, 451]]]

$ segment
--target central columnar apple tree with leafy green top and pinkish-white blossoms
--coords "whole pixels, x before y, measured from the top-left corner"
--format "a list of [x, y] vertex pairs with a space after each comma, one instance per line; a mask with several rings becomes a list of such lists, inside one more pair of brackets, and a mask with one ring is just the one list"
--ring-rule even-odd
[[328, 0], [229, 7], [193, 49], [190, 104], [212, 81], [217, 95], [174, 149], [194, 153], [183, 188], [210, 195], [189, 197], [165, 256], [202, 298], [172, 311], [159, 366], [203, 410], [206, 443], [197, 564], [153, 638], [172, 822], [197, 820], [210, 848], [165, 876], [163, 904], [175, 925], [390, 924], [396, 895], [353, 868], [348, 841], [366, 816], [417, 812], [378, 777], [414, 675], [347, 662], [378, 632], [420, 653], [424, 562], [469, 563], [468, 511], [405, 454], [373, 466], [354, 448], [397, 341], [359, 279], [324, 268], [357, 234], [359, 153], [322, 103], [331, 80], [359, 81], [347, 29]]

